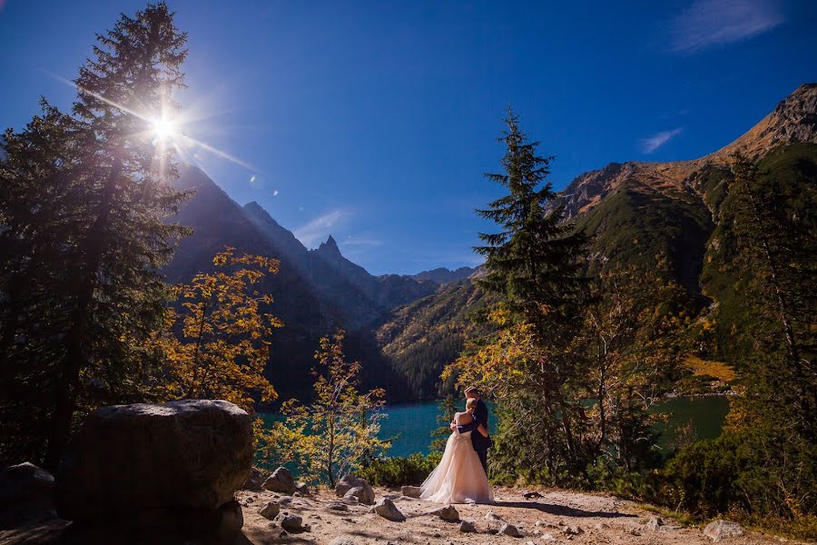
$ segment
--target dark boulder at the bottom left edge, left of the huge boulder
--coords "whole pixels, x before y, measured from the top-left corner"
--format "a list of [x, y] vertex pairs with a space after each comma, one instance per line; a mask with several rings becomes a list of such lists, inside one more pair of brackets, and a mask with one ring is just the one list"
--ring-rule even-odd
[[31, 462], [0, 471], [0, 528], [54, 513], [54, 477]]

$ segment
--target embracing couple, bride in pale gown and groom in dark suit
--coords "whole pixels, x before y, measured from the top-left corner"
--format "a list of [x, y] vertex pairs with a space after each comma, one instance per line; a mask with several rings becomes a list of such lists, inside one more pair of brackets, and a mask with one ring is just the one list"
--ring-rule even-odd
[[493, 503], [487, 480], [488, 411], [479, 390], [466, 393], [466, 411], [451, 422], [451, 436], [437, 468], [420, 487], [420, 498], [436, 503]]

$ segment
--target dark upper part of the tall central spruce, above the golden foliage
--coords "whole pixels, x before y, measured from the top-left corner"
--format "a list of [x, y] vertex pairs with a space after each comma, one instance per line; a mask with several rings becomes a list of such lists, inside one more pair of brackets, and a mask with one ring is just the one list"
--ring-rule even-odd
[[[499, 233], [483, 233], [485, 243], [475, 250], [486, 256], [487, 274], [479, 284], [497, 292], [507, 307], [542, 334], [571, 317], [569, 302], [580, 301], [584, 290], [581, 260], [584, 233], [564, 220], [564, 205], [547, 176], [553, 157], [536, 154], [538, 142], [529, 141], [519, 117], [508, 108], [503, 173], [486, 177], [507, 189], [486, 210], [477, 213], [497, 223]], [[553, 318], [559, 315], [559, 320]]]

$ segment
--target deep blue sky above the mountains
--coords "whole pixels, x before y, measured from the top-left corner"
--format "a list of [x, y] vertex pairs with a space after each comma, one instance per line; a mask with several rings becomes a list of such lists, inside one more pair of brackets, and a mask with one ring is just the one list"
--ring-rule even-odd
[[[692, 159], [817, 81], [817, 2], [172, 0], [189, 33], [183, 130], [238, 203], [369, 272], [478, 263], [508, 104], [556, 155]], [[0, 125], [67, 107], [94, 33], [143, 2], [0, 0]], [[229, 156], [229, 157], [228, 157]]]

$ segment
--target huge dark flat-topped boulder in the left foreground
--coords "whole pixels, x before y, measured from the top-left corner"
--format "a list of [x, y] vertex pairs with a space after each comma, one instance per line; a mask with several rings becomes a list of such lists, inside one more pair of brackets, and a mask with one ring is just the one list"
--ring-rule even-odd
[[74, 521], [218, 510], [250, 477], [252, 455], [250, 416], [228, 401], [104, 407], [60, 466], [57, 509]]

